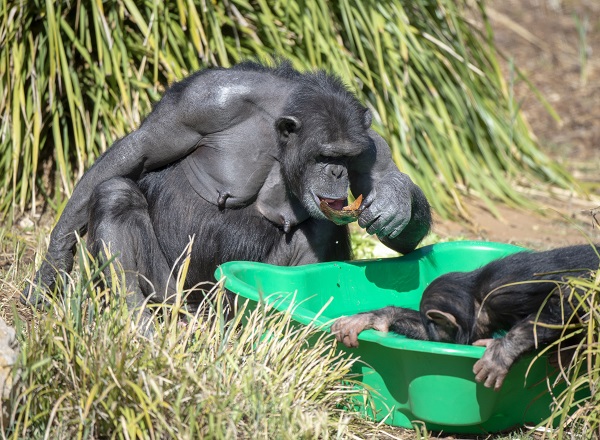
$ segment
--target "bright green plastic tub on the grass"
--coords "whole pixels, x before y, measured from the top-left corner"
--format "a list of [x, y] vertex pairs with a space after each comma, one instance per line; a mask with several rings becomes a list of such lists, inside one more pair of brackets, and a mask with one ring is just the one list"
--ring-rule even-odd
[[[293, 304], [293, 319], [329, 328], [343, 315], [388, 305], [418, 309], [424, 288], [452, 271], [473, 270], [523, 248], [491, 242], [440, 243], [409, 255], [377, 260], [319, 263], [281, 267], [253, 262], [220, 266], [217, 279], [247, 298], [252, 308], [267, 301], [276, 309]], [[475, 382], [473, 364], [483, 347], [408, 339], [367, 330], [360, 346], [360, 381], [375, 390], [375, 414], [385, 423], [411, 428], [425, 422], [430, 430], [454, 433], [497, 432], [526, 423], [537, 424], [549, 414], [551, 396], [546, 377], [553, 369], [547, 359], [533, 364], [531, 356], [516, 363], [502, 389], [495, 392]]]

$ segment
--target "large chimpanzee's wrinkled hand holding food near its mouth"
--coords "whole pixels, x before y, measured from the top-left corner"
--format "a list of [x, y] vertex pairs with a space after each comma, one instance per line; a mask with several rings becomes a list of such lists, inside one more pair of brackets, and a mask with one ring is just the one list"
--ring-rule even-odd
[[381, 240], [398, 237], [411, 220], [413, 187], [410, 178], [399, 171], [384, 175], [361, 205], [359, 226]]

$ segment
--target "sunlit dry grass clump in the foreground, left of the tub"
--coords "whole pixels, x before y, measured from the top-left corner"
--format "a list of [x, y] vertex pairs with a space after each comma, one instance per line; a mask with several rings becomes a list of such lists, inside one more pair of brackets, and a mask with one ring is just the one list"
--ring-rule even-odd
[[9, 438], [297, 439], [345, 429], [354, 361], [328, 334], [262, 306], [226, 322], [213, 289], [185, 323], [179, 301], [159, 306], [147, 337], [98, 269], [81, 272], [64, 299], [18, 324]]

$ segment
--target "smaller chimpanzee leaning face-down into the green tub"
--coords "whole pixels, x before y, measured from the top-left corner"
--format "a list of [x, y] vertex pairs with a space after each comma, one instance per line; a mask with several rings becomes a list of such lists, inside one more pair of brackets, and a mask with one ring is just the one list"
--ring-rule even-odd
[[[573, 313], [571, 292], [561, 281], [598, 270], [598, 251], [582, 245], [519, 252], [472, 272], [451, 272], [425, 289], [420, 311], [390, 306], [359, 313], [338, 319], [331, 332], [348, 347], [357, 347], [366, 329], [485, 346], [473, 372], [498, 390], [520, 356], [560, 336], [560, 325]], [[500, 330], [508, 332], [492, 339]]]

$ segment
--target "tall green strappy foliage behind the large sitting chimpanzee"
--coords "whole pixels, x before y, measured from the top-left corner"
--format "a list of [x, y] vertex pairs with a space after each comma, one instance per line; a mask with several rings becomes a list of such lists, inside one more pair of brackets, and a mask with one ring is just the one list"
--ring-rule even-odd
[[341, 76], [444, 217], [462, 191], [525, 203], [515, 179], [571, 185], [518, 113], [483, 2], [467, 3], [0, 0], [0, 212], [35, 212], [39, 195], [60, 210], [169, 83], [273, 56]]

